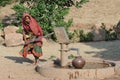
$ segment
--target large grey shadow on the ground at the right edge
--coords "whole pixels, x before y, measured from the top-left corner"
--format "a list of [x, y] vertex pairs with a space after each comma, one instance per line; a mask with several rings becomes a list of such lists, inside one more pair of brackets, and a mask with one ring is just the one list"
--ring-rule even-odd
[[86, 54], [94, 54], [93, 57], [99, 57], [106, 60], [120, 60], [120, 41], [101, 41], [84, 43], [101, 51], [85, 51]]

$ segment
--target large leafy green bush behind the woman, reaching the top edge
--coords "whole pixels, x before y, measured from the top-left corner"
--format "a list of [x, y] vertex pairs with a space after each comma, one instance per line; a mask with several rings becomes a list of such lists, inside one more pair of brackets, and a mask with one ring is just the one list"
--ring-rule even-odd
[[72, 19], [65, 21], [64, 16], [69, 13], [69, 8], [88, 2], [88, 0], [81, 0], [82, 2], [80, 1], [79, 4], [77, 2], [76, 5], [73, 0], [29, 0], [33, 5], [28, 8], [23, 6], [25, 1], [20, 0], [20, 4], [13, 7], [17, 19], [21, 23], [23, 13], [28, 12], [39, 22], [44, 35], [53, 32], [54, 27], [61, 26], [68, 32]]

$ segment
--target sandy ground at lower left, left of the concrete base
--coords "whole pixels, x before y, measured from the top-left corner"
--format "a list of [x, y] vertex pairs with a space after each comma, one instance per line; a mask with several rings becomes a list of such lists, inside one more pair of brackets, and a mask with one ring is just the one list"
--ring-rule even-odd
[[0, 46], [0, 80], [43, 80], [31, 64], [32, 58], [24, 59], [17, 54], [20, 48]]

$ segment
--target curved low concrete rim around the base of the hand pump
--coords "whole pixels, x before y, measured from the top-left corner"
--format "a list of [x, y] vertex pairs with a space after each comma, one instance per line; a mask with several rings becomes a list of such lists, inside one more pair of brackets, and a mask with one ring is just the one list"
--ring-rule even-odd
[[116, 74], [116, 63], [113, 61], [106, 61], [102, 59], [85, 59], [86, 62], [94, 63], [108, 63], [109, 67], [96, 68], [96, 69], [69, 69], [69, 68], [56, 68], [52, 61], [40, 63], [36, 67], [37, 72], [47, 78], [57, 80], [73, 80], [73, 79], [88, 79], [97, 80], [111, 77]]

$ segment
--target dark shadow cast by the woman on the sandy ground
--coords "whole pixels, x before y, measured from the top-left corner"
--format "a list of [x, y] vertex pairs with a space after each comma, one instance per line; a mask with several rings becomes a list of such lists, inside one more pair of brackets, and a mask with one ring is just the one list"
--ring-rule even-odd
[[23, 62], [33, 63], [32, 60], [23, 57], [5, 56], [5, 58], [13, 60], [15, 63], [20, 63], [20, 64], [23, 64]]

